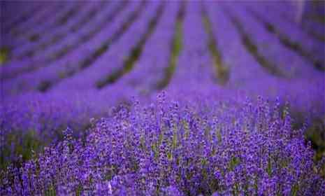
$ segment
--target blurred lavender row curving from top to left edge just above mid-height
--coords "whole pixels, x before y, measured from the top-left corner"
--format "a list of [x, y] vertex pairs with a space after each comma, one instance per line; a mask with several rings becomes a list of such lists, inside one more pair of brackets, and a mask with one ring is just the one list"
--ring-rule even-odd
[[[23, 80], [23, 78], [27, 78], [31, 74], [37, 73], [37, 71], [51, 69], [50, 67], [54, 64], [60, 64], [64, 67], [71, 64], [71, 69], [73, 69], [73, 66], [82, 60], [80, 56], [87, 57], [91, 55], [89, 51], [98, 48], [97, 45], [92, 46], [90, 43], [97, 43], [99, 45], [100, 42], [105, 41], [105, 32], [108, 31], [110, 21], [116, 18], [117, 14], [124, 7], [123, 2], [108, 5], [108, 8], [101, 10], [95, 18], [92, 18], [92, 21], [85, 22], [82, 27], [74, 32], [72, 27], [68, 27], [64, 37], [59, 40], [56, 39], [55, 43], [49, 45], [51, 47], [41, 48], [43, 51], [38, 52], [37, 55], [23, 59], [13, 57], [11, 61], [3, 65], [3, 76], [5, 76], [3, 80], [6, 81], [12, 78], [13, 81], [11, 83], [18, 83], [19, 80]], [[52, 38], [53, 36], [49, 35], [49, 37]], [[27, 43], [27, 48], [31, 48], [31, 44]], [[77, 58], [76, 62], [69, 60], [75, 58]], [[57, 75], [65, 76], [64, 73], [57, 73]]]

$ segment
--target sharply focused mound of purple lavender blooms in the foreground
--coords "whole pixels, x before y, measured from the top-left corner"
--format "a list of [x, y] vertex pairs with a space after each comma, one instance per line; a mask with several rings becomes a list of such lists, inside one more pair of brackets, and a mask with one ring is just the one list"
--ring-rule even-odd
[[3, 172], [1, 195], [324, 195], [321, 165], [291, 121], [261, 97], [159, 94], [93, 123], [85, 141], [66, 130], [64, 141]]

